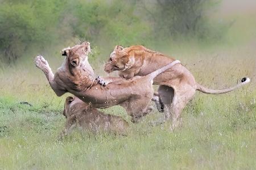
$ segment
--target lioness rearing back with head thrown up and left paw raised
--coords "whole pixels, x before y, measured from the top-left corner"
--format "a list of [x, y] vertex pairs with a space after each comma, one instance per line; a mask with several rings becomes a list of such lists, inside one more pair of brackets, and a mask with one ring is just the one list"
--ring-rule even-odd
[[48, 82], [57, 96], [69, 92], [93, 108], [108, 108], [121, 105], [131, 116], [131, 121], [137, 122], [148, 114], [151, 98], [154, 95], [152, 87], [155, 76], [175, 66], [174, 61], [145, 76], [134, 76], [129, 80], [115, 78], [107, 87], [102, 87], [94, 77], [92, 67], [88, 62], [90, 52], [89, 42], [83, 42], [72, 48], [63, 50], [63, 65], [53, 74], [48, 62], [42, 56], [35, 58], [35, 65], [46, 75]]

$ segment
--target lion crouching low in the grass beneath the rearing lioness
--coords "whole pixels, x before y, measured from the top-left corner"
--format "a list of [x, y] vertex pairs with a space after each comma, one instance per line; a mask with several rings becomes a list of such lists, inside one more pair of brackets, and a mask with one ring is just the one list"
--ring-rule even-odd
[[99, 131], [126, 135], [129, 124], [119, 116], [104, 114], [77, 97], [67, 97], [63, 115], [67, 118], [61, 137], [71, 133], [75, 127], [97, 133]]

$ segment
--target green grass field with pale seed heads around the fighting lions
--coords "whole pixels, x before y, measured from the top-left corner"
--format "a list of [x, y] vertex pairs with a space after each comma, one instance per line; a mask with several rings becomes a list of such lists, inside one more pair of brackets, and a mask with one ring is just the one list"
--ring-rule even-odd
[[[57, 135], [68, 94], [53, 93], [34, 57], [5, 67], [0, 71], [0, 169], [255, 169], [255, 54], [253, 46], [174, 51], [207, 87], [233, 86], [243, 76], [252, 81], [229, 94], [197, 92], [181, 114], [182, 126], [172, 133], [168, 123], [148, 125], [161, 116], [155, 109], [141, 123], [130, 124], [127, 137], [76, 130], [63, 141]], [[45, 57], [53, 70], [62, 62]], [[96, 73], [103, 74], [100, 70]], [[129, 120], [121, 107], [105, 112]]]

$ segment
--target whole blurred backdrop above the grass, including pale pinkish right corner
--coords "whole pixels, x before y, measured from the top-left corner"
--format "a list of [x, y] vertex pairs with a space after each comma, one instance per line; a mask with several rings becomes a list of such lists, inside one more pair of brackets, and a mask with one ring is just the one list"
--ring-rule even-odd
[[255, 39], [255, 2], [250, 0], [0, 2], [0, 59], [5, 64], [80, 41], [92, 42], [106, 58], [114, 45], [171, 51]]

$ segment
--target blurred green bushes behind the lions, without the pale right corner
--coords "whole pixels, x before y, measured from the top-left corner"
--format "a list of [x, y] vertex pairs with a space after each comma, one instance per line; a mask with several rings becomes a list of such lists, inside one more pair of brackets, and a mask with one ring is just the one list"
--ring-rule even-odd
[[[35, 50], [88, 40], [100, 50], [116, 44], [156, 45], [157, 41], [221, 37], [207, 11], [218, 1], [6, 1], [0, 6], [0, 51], [11, 63]], [[217, 26], [216, 26], [217, 25]], [[215, 39], [219, 40], [219, 39]], [[69, 43], [70, 45], [70, 43]]]

